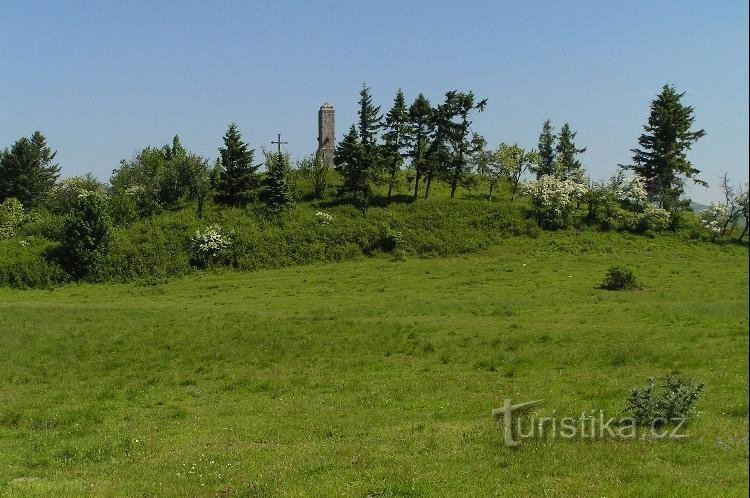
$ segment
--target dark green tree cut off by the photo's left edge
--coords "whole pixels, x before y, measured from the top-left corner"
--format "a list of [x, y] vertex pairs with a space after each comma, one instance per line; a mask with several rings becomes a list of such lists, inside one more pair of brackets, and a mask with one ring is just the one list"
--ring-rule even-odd
[[0, 152], [0, 202], [14, 197], [27, 208], [41, 204], [60, 176], [56, 155], [38, 131]]

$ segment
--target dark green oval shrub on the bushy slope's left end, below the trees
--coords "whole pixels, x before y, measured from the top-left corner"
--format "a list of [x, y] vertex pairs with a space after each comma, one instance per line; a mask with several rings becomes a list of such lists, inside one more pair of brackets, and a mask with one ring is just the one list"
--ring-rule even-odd
[[73, 278], [88, 276], [97, 259], [107, 253], [111, 231], [107, 199], [96, 194], [79, 197], [60, 240], [60, 261]]

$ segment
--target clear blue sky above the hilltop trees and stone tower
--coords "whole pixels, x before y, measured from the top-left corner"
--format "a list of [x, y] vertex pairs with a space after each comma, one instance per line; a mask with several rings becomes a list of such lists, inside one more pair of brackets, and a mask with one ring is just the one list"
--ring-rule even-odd
[[[123, 158], [179, 134], [217, 156], [230, 121], [251, 146], [276, 133], [316, 148], [317, 110], [337, 135], [363, 82], [489, 99], [474, 121], [491, 146], [535, 147], [550, 118], [578, 131], [608, 178], [664, 83], [686, 91], [707, 136], [690, 159], [716, 184], [748, 177], [748, 5], [707, 1], [50, 1], [2, 3], [0, 146], [41, 130], [63, 176], [108, 179]], [[718, 191], [691, 189], [699, 202]]]

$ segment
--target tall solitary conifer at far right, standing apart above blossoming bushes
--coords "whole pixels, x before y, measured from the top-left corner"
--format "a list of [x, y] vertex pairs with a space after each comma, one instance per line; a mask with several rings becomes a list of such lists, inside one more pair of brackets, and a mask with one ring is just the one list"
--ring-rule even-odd
[[671, 210], [684, 191], [684, 179], [698, 180], [699, 170], [687, 159], [687, 151], [705, 136], [703, 129], [692, 131], [694, 109], [681, 102], [685, 93], [664, 85], [651, 101], [651, 114], [638, 138], [640, 148], [631, 149], [633, 164], [625, 166], [646, 180], [649, 199]]

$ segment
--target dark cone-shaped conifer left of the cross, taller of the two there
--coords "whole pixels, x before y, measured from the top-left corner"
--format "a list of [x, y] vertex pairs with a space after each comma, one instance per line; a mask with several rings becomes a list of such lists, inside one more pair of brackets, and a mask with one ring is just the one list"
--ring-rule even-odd
[[245, 206], [258, 187], [258, 165], [253, 164], [255, 149], [248, 149], [235, 123], [231, 123], [224, 135], [224, 147], [219, 148], [221, 157], [221, 181], [217, 200], [231, 206]]

